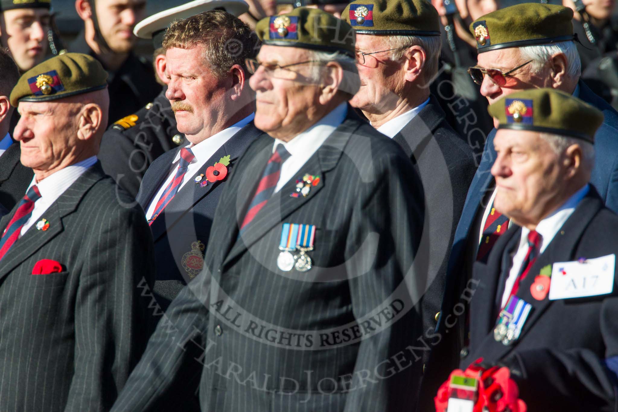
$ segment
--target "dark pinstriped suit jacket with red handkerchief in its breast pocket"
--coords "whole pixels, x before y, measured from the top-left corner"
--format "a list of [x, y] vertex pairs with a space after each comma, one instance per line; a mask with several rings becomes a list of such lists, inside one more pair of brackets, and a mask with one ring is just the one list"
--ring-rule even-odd
[[[153, 274], [139, 206], [88, 169], [0, 261], [0, 411], [106, 411], [142, 354]], [[0, 221], [4, 230], [10, 217]], [[40, 259], [64, 271], [32, 275]]]

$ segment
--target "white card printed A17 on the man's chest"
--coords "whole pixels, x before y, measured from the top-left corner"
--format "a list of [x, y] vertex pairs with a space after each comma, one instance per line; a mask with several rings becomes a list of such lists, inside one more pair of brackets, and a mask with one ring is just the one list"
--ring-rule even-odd
[[607, 295], [614, 290], [616, 254], [583, 262], [557, 262], [551, 270], [549, 300]]

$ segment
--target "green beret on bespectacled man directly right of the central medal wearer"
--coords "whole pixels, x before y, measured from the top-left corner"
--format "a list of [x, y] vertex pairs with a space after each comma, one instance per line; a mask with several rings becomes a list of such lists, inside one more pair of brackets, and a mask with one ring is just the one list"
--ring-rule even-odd
[[341, 17], [362, 35], [440, 35], [438, 12], [427, 0], [356, 0]]

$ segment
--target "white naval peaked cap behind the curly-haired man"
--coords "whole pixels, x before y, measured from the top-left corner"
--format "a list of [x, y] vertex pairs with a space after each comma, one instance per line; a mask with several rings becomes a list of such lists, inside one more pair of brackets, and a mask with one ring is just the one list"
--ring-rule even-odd
[[249, 5], [243, 0], [193, 0], [146, 17], [135, 25], [133, 34], [142, 39], [151, 39], [156, 33], [166, 30], [174, 20], [187, 19], [219, 8], [238, 17], [248, 11]]

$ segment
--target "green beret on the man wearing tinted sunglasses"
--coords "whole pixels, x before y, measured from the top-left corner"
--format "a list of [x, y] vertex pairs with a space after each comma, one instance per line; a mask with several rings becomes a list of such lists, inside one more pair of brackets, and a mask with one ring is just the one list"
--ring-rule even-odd
[[478, 53], [574, 40], [573, 11], [556, 4], [522, 3], [483, 15], [470, 25]]

